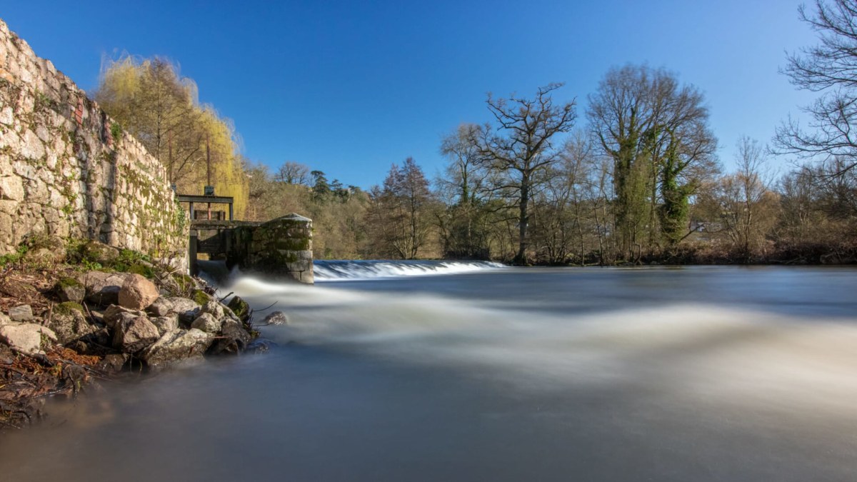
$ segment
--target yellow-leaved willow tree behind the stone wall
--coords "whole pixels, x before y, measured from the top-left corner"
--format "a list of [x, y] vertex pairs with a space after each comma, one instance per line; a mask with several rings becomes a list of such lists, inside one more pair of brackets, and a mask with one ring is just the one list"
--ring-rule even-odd
[[235, 198], [242, 216], [248, 183], [231, 122], [201, 105], [193, 80], [163, 58], [122, 57], [105, 63], [95, 99], [166, 167], [177, 190], [201, 193], [212, 184]]

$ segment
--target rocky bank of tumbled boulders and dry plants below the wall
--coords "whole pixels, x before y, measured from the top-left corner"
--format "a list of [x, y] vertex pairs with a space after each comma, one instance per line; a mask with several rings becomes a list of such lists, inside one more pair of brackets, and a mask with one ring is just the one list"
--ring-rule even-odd
[[0, 258], [0, 430], [52, 395], [210, 355], [264, 351], [252, 310], [203, 281], [98, 242], [30, 238]]

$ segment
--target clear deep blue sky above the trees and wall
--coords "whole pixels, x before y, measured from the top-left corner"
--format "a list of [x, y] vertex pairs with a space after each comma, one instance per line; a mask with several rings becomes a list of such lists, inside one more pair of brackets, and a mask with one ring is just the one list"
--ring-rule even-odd
[[[816, 42], [791, 0], [592, 2], [0, 3], [0, 18], [77, 84], [103, 57], [169, 57], [230, 117], [250, 160], [302, 162], [369, 187], [412, 156], [440, 172], [440, 138], [488, 121], [485, 96], [586, 97], [611, 66], [648, 63], [704, 93], [720, 158], [770, 142], [810, 93], [777, 69]], [[787, 160], [776, 160], [785, 165]]]

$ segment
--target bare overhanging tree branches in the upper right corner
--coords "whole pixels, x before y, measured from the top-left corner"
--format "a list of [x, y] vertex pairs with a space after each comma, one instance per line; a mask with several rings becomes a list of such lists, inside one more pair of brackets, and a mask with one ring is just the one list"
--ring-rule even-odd
[[788, 55], [783, 72], [801, 89], [822, 93], [803, 108], [808, 129], [788, 119], [776, 131], [779, 154], [841, 164], [834, 175], [857, 166], [857, 0], [816, 0], [814, 15], [800, 19], [818, 32], [819, 45]]

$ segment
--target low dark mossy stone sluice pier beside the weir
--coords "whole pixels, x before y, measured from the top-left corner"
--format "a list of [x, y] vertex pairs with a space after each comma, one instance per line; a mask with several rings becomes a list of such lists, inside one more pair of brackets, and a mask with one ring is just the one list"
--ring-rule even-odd
[[286, 275], [313, 284], [313, 221], [288, 214], [266, 222], [191, 220], [189, 260], [198, 272], [197, 255], [224, 259], [243, 271]]

